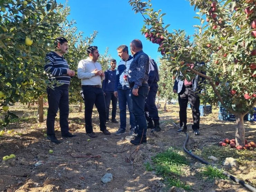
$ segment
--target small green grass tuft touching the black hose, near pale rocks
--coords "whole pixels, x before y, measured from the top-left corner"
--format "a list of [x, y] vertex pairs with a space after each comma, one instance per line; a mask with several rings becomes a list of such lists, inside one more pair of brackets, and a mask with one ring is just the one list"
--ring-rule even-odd
[[213, 181], [216, 178], [220, 179], [228, 179], [225, 175], [223, 175], [223, 169], [218, 169], [217, 167], [213, 167], [212, 165], [208, 165], [203, 168], [202, 175], [206, 177], [206, 180]]

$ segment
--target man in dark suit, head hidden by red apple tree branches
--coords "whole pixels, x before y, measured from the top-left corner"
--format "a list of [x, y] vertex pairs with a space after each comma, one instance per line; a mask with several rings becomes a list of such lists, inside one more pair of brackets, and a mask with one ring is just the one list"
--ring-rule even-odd
[[[205, 63], [196, 63], [196, 65], [203, 66]], [[190, 67], [194, 68], [194, 64], [190, 64]], [[205, 72], [201, 72], [202, 74], [205, 74]], [[182, 74], [181, 74], [182, 75]], [[205, 78], [199, 75], [196, 75], [195, 78], [192, 81], [187, 81], [186, 79], [184, 81], [182, 80], [175, 80], [174, 86], [173, 86], [173, 92], [178, 93], [178, 101], [180, 106], [180, 126], [181, 128], [177, 130], [177, 132], [186, 132], [187, 130], [187, 107], [188, 102], [190, 103], [191, 109], [192, 109], [192, 117], [193, 117], [193, 125], [192, 129], [195, 135], [199, 135], [199, 123], [200, 123], [200, 97], [199, 94], [203, 92], [200, 84], [205, 83]]]

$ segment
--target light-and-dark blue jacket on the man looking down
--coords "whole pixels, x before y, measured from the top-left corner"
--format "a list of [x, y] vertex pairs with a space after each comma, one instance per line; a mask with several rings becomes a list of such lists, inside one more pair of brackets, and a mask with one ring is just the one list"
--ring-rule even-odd
[[124, 75], [125, 74], [128, 75], [128, 71], [129, 71], [132, 60], [133, 60], [133, 57], [129, 56], [127, 61], [121, 60], [118, 63], [114, 91], [117, 91], [117, 89], [123, 89], [123, 90], [129, 89], [129, 84], [127, 81], [124, 80]]

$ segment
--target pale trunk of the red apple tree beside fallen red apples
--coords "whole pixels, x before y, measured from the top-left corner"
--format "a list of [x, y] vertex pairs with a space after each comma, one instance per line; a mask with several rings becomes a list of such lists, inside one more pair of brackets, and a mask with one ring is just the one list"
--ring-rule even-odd
[[236, 114], [236, 146], [245, 146], [244, 116], [245, 114]]

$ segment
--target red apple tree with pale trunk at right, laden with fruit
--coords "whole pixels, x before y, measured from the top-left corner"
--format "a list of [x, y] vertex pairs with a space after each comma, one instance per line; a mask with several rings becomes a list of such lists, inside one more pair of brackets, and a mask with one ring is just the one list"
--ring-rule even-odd
[[[130, 0], [135, 13], [144, 17], [141, 32], [170, 62], [178, 78], [204, 76], [211, 86], [212, 100], [236, 116], [236, 145], [245, 145], [244, 116], [256, 104], [256, 2], [254, 0], [189, 0], [198, 9], [199, 25], [193, 42], [179, 31], [169, 32], [161, 10], [154, 11], [150, 0]], [[187, 64], [204, 61], [204, 66]], [[201, 73], [202, 70], [207, 75]], [[206, 92], [202, 97], [208, 97]]]

